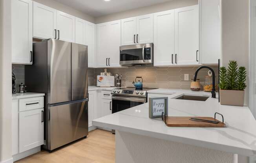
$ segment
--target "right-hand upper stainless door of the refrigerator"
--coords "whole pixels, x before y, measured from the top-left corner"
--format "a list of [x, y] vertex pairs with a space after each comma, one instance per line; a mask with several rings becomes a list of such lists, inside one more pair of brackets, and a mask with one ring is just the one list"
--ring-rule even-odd
[[71, 43], [72, 100], [88, 98], [88, 46]]

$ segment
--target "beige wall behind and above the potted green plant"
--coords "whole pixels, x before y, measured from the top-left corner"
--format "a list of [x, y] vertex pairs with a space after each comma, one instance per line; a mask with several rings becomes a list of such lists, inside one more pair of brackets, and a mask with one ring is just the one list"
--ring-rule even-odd
[[[249, 74], [249, 0], [221, 0], [221, 63], [236, 60]], [[245, 105], [249, 98], [249, 78], [245, 90]]]

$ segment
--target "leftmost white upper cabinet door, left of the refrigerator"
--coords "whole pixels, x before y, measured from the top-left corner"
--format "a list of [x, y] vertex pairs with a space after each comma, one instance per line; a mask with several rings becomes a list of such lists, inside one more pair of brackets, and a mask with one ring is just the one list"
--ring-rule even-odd
[[32, 64], [33, 3], [12, 0], [12, 63]]

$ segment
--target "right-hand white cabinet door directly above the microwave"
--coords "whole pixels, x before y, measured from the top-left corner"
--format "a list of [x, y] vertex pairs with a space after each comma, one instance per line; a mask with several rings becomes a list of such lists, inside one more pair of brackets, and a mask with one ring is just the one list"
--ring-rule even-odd
[[137, 16], [136, 43], [153, 42], [153, 14]]

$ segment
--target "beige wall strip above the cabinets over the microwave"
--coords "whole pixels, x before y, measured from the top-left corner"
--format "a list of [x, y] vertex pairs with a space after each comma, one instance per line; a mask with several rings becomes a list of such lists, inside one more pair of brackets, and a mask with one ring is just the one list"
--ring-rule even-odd
[[161, 4], [140, 7], [137, 9], [132, 9], [132, 10], [119, 12], [119, 13], [113, 13], [105, 16], [99, 16], [95, 18], [95, 23], [99, 24], [104, 22], [110, 22], [113, 20], [119, 20], [119, 19], [129, 18], [133, 16], [150, 14], [150, 13], [157, 13], [160, 11], [166, 11], [170, 9], [176, 9], [176, 8], [196, 5], [196, 4], [198, 4], [198, 0], [173, 0], [173, 1], [165, 2]]

